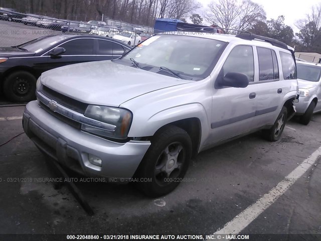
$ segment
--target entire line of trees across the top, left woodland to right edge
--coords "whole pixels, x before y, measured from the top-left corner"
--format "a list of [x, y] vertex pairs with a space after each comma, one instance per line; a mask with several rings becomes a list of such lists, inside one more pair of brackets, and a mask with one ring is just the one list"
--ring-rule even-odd
[[0, 7], [22, 13], [77, 21], [101, 20], [102, 16], [131, 24], [153, 26], [157, 18], [187, 18], [194, 24], [215, 25], [227, 33], [247, 31], [280, 40], [296, 51], [321, 53], [321, 3], [304, 19], [297, 20], [297, 33], [284, 23], [284, 16], [266, 19], [264, 8], [251, 0], [216, 0], [201, 17], [198, 0], [0, 0]]

